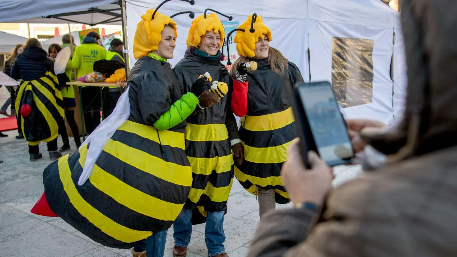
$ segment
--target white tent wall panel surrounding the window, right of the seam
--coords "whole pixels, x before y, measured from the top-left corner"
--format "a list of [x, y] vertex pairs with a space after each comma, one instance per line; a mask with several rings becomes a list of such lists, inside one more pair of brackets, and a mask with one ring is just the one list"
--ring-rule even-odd
[[[348, 0], [309, 0], [309, 51], [311, 81], [332, 81], [332, 40], [349, 37], [373, 40], [372, 102], [346, 107], [349, 118], [393, 118], [390, 64], [393, 53], [393, 15]], [[354, 13], [357, 13], [354, 16]], [[343, 89], [344, 90], [344, 89]], [[353, 91], [354, 92], [354, 91]], [[358, 91], [355, 91], [356, 94]], [[346, 97], [354, 98], [346, 91]]]

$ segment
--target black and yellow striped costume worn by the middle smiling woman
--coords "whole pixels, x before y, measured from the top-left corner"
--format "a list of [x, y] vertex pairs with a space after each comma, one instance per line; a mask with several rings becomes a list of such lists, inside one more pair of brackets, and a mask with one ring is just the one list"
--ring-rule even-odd
[[[212, 80], [228, 82], [227, 69], [219, 60], [210, 61], [186, 54], [173, 68], [183, 93], [199, 75], [208, 72]], [[207, 88], [209, 90], [210, 88]], [[192, 167], [192, 188], [184, 208], [194, 209], [192, 224], [203, 223], [207, 212], [227, 212], [227, 200], [234, 177], [230, 140], [238, 138], [238, 127], [224, 96], [212, 107], [187, 118], [186, 154]]]

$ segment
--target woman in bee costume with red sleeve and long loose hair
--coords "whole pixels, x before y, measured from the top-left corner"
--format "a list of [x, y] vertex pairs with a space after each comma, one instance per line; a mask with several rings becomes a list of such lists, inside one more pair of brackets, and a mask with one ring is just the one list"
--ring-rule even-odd
[[[234, 173], [247, 191], [259, 197], [262, 216], [275, 209], [275, 202], [289, 202], [280, 171], [287, 147], [297, 135], [287, 87], [303, 78], [295, 64], [269, 47], [271, 31], [260, 16], [250, 15], [234, 31], [240, 58], [231, 70], [232, 110], [242, 117], [239, 135], [244, 146], [243, 164], [236, 164]], [[245, 63], [251, 61], [257, 70], [248, 72], [251, 67]]]

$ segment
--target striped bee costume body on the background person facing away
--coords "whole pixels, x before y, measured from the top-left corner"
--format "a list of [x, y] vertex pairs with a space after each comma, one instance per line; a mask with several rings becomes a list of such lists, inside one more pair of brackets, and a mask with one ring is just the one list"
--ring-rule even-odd
[[[20, 112], [25, 104], [31, 107], [27, 117], [21, 116]], [[21, 81], [15, 107], [22, 133], [29, 145], [57, 138], [58, 123], [64, 119], [63, 105], [58, 79], [50, 71], [36, 80]]]

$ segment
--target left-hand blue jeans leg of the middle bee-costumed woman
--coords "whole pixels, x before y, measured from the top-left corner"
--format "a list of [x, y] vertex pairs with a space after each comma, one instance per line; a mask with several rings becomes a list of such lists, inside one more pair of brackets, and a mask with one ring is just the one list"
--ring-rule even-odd
[[175, 245], [187, 247], [192, 236], [192, 210], [183, 208], [173, 223]]

